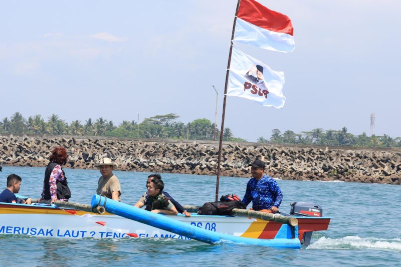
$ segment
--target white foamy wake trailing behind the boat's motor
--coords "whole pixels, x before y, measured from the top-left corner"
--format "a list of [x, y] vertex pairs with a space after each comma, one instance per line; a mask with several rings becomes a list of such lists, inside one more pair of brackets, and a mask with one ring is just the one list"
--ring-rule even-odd
[[353, 249], [372, 248], [401, 251], [401, 238], [376, 238], [345, 236], [342, 238], [320, 237], [308, 249]]

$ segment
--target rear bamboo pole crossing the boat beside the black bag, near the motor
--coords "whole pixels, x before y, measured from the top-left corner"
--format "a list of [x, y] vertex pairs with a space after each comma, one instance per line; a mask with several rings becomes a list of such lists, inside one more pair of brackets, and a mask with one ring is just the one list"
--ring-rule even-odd
[[[193, 205], [184, 206], [184, 209], [186, 209], [188, 212], [196, 212], [198, 208], [199, 206], [193, 206]], [[231, 211], [231, 214], [238, 217], [249, 217], [255, 219], [286, 223], [291, 226], [296, 226], [298, 224], [298, 220], [296, 218], [284, 216], [279, 213], [267, 213], [256, 210], [234, 208]]]

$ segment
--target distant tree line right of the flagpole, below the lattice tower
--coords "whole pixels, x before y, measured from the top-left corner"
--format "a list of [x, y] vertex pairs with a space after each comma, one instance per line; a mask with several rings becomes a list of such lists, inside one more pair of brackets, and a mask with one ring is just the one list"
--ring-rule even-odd
[[392, 138], [386, 134], [382, 136], [367, 136], [365, 132], [353, 135], [348, 132], [346, 127], [343, 127], [341, 130], [315, 128], [311, 131], [301, 133], [295, 133], [291, 130], [281, 133], [279, 129], [274, 129], [269, 140], [259, 137], [257, 142], [325, 146], [401, 147], [401, 137]]

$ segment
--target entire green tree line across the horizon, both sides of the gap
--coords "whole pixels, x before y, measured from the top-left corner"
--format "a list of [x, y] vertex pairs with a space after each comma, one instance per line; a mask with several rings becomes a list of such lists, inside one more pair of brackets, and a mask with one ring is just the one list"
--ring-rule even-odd
[[[108, 136], [149, 139], [187, 139], [187, 140], [219, 140], [220, 127], [216, 127], [208, 119], [196, 119], [187, 124], [177, 121], [174, 113], [157, 115], [146, 118], [138, 124], [137, 121], [122, 121], [114, 125], [102, 117], [85, 122], [79, 120], [67, 123], [58, 115], [52, 114], [47, 120], [41, 115], [30, 116], [28, 119], [20, 112], [14, 113], [10, 119], [5, 117], [0, 121], [0, 134], [51, 134], [51, 135], [84, 135]], [[216, 131], [216, 134], [215, 134]], [[230, 128], [224, 128], [223, 140], [233, 142], [247, 142], [234, 137]], [[401, 137], [391, 138], [383, 136], [367, 136], [366, 133], [353, 135], [346, 127], [341, 130], [323, 130], [315, 128], [311, 131], [295, 133], [287, 130], [281, 133], [279, 129], [272, 130], [269, 139], [259, 137], [258, 143], [270, 144], [302, 144], [326, 146], [357, 146], [357, 147], [401, 147]]]

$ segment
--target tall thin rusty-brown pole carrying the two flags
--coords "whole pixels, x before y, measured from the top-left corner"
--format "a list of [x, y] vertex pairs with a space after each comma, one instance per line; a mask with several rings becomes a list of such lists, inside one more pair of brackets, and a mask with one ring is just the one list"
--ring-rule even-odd
[[220, 165], [221, 165], [221, 160], [222, 160], [222, 148], [223, 148], [224, 116], [226, 115], [226, 98], [227, 98], [226, 94], [227, 94], [227, 87], [228, 87], [228, 81], [229, 81], [231, 54], [233, 52], [233, 39], [234, 39], [234, 33], [235, 33], [235, 24], [237, 22], [237, 14], [238, 14], [238, 9], [240, 8], [240, 2], [241, 2], [241, 0], [238, 0], [237, 9], [235, 11], [235, 17], [234, 17], [234, 23], [233, 23], [233, 33], [231, 34], [231, 42], [230, 42], [229, 60], [228, 60], [228, 63], [227, 63], [226, 85], [224, 86], [222, 126], [220, 128], [219, 155], [218, 155], [218, 158], [217, 158], [216, 201], [218, 201], [218, 199], [219, 199]]

